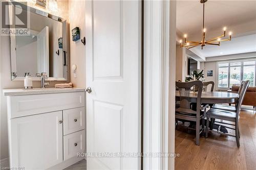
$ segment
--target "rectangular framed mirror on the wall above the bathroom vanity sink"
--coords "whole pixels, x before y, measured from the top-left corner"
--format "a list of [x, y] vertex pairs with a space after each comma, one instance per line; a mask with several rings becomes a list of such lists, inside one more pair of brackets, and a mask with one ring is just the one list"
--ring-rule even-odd
[[9, 6], [9, 18], [14, 18], [18, 10], [26, 10], [27, 15], [19, 17], [29, 16], [30, 25], [27, 34], [10, 35], [11, 79], [21, 81], [29, 74], [33, 81], [39, 81], [41, 73], [46, 72], [47, 80], [68, 80], [69, 29], [66, 19], [20, 3]]

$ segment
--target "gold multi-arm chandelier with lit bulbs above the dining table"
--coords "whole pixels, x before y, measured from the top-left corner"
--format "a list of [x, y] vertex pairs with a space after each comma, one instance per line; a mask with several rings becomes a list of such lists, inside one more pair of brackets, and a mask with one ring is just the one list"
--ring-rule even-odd
[[187, 38], [187, 35], [185, 34], [184, 35], [184, 43], [182, 43], [182, 40], [180, 40], [180, 47], [186, 47], [187, 49], [189, 48], [193, 48], [193, 47], [196, 47], [196, 46], [199, 46], [201, 45], [202, 47], [202, 50], [203, 50], [203, 47], [205, 45], [219, 45], [220, 46], [220, 41], [230, 41], [231, 40], [231, 32], [229, 32], [229, 38], [227, 39], [222, 39], [222, 37], [225, 37], [226, 36], [226, 27], [223, 28], [223, 31], [224, 31], [224, 34], [219, 36], [219, 37], [216, 37], [216, 38], [212, 38], [212, 39], [209, 39], [209, 40], [205, 40], [205, 32], [206, 32], [206, 29], [204, 28], [204, 3], [206, 3], [207, 0], [201, 0], [200, 3], [203, 4], [203, 30], [202, 30], [202, 40], [201, 41], [187, 41], [186, 38]]

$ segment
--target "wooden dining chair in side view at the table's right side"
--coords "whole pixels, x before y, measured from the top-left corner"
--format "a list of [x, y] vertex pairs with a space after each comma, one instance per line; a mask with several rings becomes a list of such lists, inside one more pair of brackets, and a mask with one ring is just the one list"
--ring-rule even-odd
[[[207, 111], [207, 113], [206, 113], [206, 135], [205, 135], [205, 137], [208, 137], [208, 131], [223, 134], [223, 135], [226, 135], [226, 136], [236, 137], [237, 146], [240, 147], [240, 141], [239, 141], [239, 138], [240, 138], [239, 114], [240, 114], [240, 111], [241, 111], [241, 105], [242, 105], [242, 102], [244, 100], [244, 96], [245, 96], [245, 93], [246, 93], [246, 90], [247, 90], [248, 86], [249, 86], [249, 81], [245, 81], [244, 84], [243, 84], [243, 87], [241, 89], [241, 95], [238, 99], [236, 112], [222, 110], [222, 109], [215, 109], [215, 108], [211, 108], [210, 110]], [[209, 118], [221, 119], [221, 120], [226, 120], [226, 121], [232, 122], [233, 124], [229, 124], [229, 123], [226, 123], [226, 122], [219, 122], [219, 121], [217, 122], [217, 121], [215, 121], [216, 123], [234, 126], [234, 128], [230, 128], [228, 126], [217, 124], [217, 125], [219, 125], [219, 127], [222, 126], [222, 127], [234, 130], [236, 132], [236, 134], [231, 135], [231, 134], [227, 134], [227, 133], [222, 133], [219, 130], [217, 130], [217, 131], [209, 130], [209, 128], [208, 128], [209, 127]]]

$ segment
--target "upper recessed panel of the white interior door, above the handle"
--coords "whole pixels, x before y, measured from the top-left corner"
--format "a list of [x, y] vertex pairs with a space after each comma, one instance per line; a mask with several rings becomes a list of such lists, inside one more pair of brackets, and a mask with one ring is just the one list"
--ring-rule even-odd
[[94, 79], [117, 79], [122, 76], [123, 3], [93, 2]]

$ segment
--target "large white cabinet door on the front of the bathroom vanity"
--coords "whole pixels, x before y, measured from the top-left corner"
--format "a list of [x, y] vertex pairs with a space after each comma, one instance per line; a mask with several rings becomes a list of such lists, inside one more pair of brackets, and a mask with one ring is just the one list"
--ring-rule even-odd
[[11, 167], [46, 169], [62, 162], [62, 111], [10, 121]]

